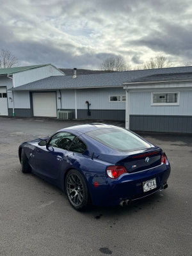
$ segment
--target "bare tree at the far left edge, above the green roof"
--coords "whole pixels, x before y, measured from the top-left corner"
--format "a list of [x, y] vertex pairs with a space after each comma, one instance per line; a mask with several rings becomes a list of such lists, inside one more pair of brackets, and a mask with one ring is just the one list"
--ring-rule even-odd
[[18, 66], [18, 58], [8, 50], [1, 49], [0, 68], [12, 68]]

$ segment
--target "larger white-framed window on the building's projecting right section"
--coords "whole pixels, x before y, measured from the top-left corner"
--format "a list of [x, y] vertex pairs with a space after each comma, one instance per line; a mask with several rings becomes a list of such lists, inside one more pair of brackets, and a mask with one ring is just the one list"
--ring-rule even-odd
[[151, 93], [152, 106], [177, 106], [179, 105], [179, 92]]

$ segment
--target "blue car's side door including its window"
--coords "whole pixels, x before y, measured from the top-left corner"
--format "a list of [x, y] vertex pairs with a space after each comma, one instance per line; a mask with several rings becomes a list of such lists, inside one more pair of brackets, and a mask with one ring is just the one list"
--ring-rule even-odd
[[36, 172], [56, 179], [60, 174], [61, 164], [68, 164], [65, 159], [75, 135], [69, 132], [58, 132], [52, 136], [46, 146], [36, 148]]

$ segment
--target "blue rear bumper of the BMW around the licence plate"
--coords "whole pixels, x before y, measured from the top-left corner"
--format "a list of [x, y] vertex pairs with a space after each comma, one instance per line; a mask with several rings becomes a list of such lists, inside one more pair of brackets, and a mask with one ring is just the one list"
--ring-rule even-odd
[[[93, 205], [118, 205], [121, 200], [137, 200], [152, 195], [167, 182], [170, 170], [170, 164], [161, 164], [143, 172], [125, 173], [114, 180], [102, 177], [99, 186], [92, 187]], [[144, 193], [143, 182], [154, 178], [156, 178], [157, 188]], [[93, 179], [93, 183], [95, 181]]]

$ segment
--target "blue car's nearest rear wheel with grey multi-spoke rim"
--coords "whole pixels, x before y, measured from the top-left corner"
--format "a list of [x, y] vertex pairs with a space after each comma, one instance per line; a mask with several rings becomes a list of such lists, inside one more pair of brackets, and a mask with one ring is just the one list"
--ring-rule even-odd
[[83, 175], [75, 169], [70, 170], [65, 179], [65, 190], [72, 207], [76, 211], [84, 211], [90, 202], [90, 195]]

